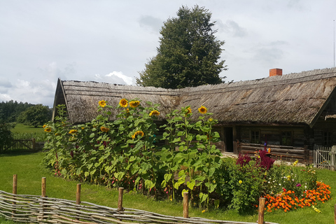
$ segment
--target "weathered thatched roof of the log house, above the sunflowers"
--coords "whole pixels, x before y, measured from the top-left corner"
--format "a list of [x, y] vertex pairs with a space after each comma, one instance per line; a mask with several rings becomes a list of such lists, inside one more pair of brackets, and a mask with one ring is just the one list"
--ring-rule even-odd
[[223, 124], [257, 123], [314, 125], [335, 95], [336, 68], [180, 90], [109, 83], [59, 80], [57, 104], [66, 104], [72, 123], [97, 116], [99, 100], [116, 106], [120, 99], [160, 104], [162, 117], [172, 109], [191, 106], [197, 118], [201, 105]]

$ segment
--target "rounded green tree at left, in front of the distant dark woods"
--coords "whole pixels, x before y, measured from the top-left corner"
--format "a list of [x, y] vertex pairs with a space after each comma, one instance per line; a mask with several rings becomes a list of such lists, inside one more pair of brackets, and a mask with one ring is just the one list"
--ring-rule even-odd
[[52, 111], [49, 109], [49, 106], [37, 104], [22, 112], [18, 118], [18, 122], [38, 127], [38, 125], [47, 123], [51, 118]]

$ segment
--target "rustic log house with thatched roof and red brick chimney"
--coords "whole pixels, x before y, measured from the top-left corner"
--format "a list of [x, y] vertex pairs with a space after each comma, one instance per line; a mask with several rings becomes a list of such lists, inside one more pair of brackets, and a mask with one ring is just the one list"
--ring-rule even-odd
[[97, 116], [102, 99], [110, 105], [123, 98], [158, 103], [161, 119], [172, 109], [202, 105], [219, 121], [223, 152], [253, 153], [267, 145], [274, 156], [311, 163], [316, 146], [336, 144], [335, 87], [336, 68], [283, 76], [271, 69], [267, 78], [179, 90], [58, 80], [54, 109], [65, 104], [71, 123], [85, 123]]

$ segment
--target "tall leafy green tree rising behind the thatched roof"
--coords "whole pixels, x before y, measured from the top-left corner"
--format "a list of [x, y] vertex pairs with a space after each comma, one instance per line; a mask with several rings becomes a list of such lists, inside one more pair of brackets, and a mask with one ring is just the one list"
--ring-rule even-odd
[[223, 83], [219, 73], [226, 69], [220, 60], [224, 41], [214, 36], [209, 10], [182, 6], [177, 16], [164, 23], [158, 55], [139, 72], [137, 84], [176, 89]]

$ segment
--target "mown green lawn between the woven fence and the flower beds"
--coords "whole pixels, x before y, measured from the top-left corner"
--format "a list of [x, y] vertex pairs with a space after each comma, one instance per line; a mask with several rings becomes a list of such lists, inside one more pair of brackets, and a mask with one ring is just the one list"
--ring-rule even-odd
[[[0, 190], [12, 192], [13, 174], [18, 174], [18, 194], [41, 195], [41, 179], [46, 178], [48, 197], [76, 200], [76, 181], [66, 181], [53, 176], [40, 166], [43, 153], [10, 153], [0, 154]], [[336, 195], [336, 172], [318, 169], [318, 181], [331, 186], [332, 197]], [[82, 183], [81, 201], [92, 202], [116, 208], [118, 207], [118, 190], [106, 189], [104, 186], [94, 186]], [[125, 193], [123, 207], [153, 211], [169, 216], [183, 216], [182, 204], [169, 201], [155, 201], [137, 193]], [[316, 213], [312, 208], [297, 209], [297, 211], [276, 211], [265, 213], [265, 221], [274, 223], [333, 223], [334, 202], [330, 200], [319, 204]], [[200, 209], [190, 209], [190, 217], [214, 218], [229, 221], [255, 222], [258, 213], [240, 215], [236, 211], [214, 210], [202, 213]], [[3, 220], [2, 220], [3, 221]], [[1, 222], [1, 218], [0, 218]], [[10, 224], [11, 222], [6, 222]]]

